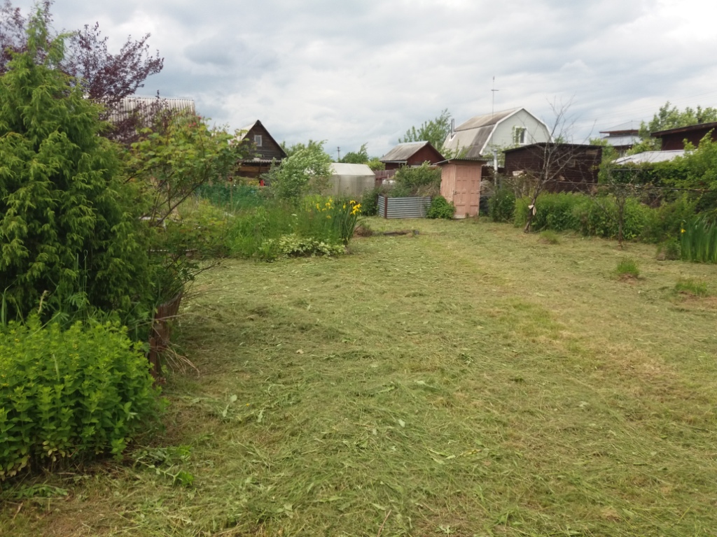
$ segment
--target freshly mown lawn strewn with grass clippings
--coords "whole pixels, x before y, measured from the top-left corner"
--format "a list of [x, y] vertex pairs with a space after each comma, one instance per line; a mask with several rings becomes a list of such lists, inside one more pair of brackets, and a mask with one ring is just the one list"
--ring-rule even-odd
[[[717, 299], [674, 290], [717, 294], [716, 266], [485, 221], [370, 223], [419, 233], [203, 274], [177, 333], [199, 374], [169, 376], [166, 433], [23, 483], [67, 496], [6, 490], [0, 533], [717, 534]], [[640, 279], [617, 277], [624, 256]]]

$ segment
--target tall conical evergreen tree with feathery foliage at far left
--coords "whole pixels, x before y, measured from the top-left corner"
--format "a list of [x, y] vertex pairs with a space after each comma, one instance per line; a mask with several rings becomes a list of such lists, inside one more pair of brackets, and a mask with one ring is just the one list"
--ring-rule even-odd
[[132, 185], [100, 134], [101, 107], [58, 66], [40, 11], [27, 50], [0, 77], [0, 293], [24, 317], [97, 306], [128, 311], [146, 289], [147, 249]]

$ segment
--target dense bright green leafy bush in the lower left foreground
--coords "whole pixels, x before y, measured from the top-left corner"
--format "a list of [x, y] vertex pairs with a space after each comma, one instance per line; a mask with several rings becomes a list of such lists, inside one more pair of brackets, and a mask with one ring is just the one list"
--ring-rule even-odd
[[0, 329], [0, 480], [24, 468], [119, 456], [158, 412], [149, 364], [116, 324]]

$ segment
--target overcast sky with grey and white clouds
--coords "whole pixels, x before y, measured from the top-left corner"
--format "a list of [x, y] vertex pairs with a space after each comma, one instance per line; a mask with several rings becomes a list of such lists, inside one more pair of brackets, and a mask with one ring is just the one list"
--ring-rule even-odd
[[[15, 0], [28, 7], [32, 2]], [[678, 0], [57, 0], [55, 29], [99, 21], [110, 48], [151, 33], [141, 95], [191, 97], [232, 130], [368, 142], [383, 155], [447, 108], [456, 124], [571, 102], [575, 142], [670, 100], [717, 105], [717, 4]]]

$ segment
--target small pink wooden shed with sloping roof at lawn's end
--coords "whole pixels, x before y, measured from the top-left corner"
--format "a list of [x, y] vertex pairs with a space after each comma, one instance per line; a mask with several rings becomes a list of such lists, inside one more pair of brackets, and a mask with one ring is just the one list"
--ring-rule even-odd
[[441, 195], [455, 205], [453, 218], [478, 216], [480, 175], [485, 160], [452, 158], [439, 163]]

